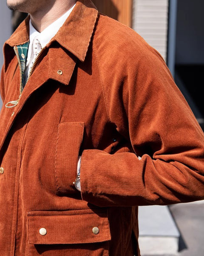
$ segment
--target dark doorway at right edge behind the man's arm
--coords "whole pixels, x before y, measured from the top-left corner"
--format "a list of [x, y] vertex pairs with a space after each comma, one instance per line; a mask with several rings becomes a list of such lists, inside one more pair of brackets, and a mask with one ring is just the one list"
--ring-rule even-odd
[[178, 0], [175, 81], [204, 128], [204, 1]]

